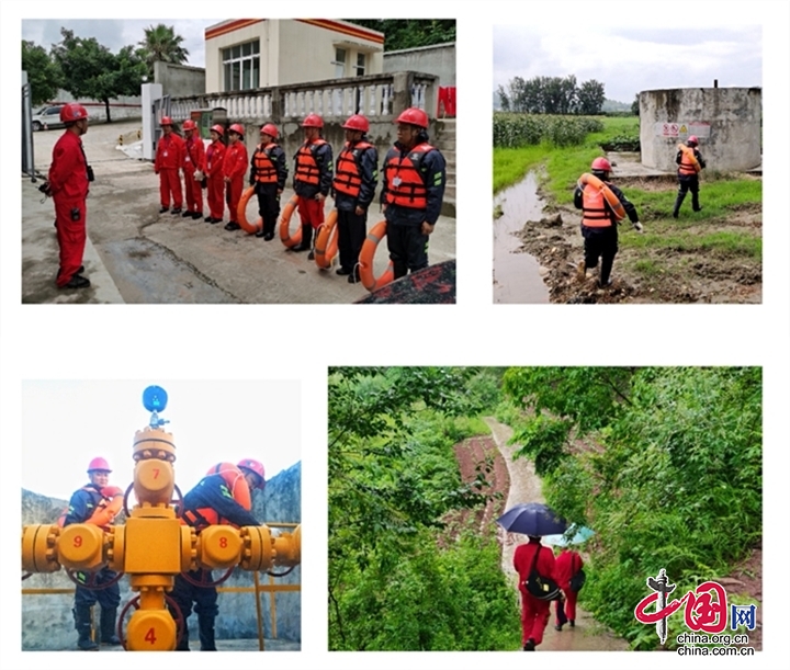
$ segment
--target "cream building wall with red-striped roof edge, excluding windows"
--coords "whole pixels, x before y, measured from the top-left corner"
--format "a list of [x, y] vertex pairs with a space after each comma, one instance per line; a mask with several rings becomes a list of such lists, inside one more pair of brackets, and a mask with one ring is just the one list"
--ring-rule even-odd
[[225, 91], [222, 50], [260, 42], [260, 82], [286, 86], [338, 77], [336, 48], [346, 49], [342, 77], [356, 76], [357, 55], [365, 54], [365, 75], [381, 73], [384, 37], [376, 31], [338, 20], [237, 20], [206, 29], [206, 93]]

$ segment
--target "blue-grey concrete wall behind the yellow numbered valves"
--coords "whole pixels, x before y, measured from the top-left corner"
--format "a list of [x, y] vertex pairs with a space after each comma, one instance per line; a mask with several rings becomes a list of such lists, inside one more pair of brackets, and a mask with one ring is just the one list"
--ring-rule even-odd
[[[302, 464], [290, 467], [267, 482], [263, 492], [256, 491], [252, 512], [262, 523], [302, 521]], [[22, 490], [22, 523], [55, 523], [66, 506], [65, 500], [57, 500]], [[275, 531], [279, 532], [279, 531]], [[283, 571], [281, 568], [272, 570]], [[221, 571], [214, 571], [218, 578]], [[261, 583], [269, 583], [269, 577], [260, 574]], [[274, 583], [301, 583], [302, 568], [296, 567], [287, 577], [274, 578]], [[253, 584], [252, 574], [236, 569], [233, 576], [222, 586], [250, 587]], [[64, 570], [49, 575], [33, 575], [22, 582], [27, 589], [74, 589], [74, 583]], [[136, 593], [128, 586], [128, 578], [120, 581], [121, 607]], [[222, 588], [222, 587], [221, 587]], [[270, 598], [261, 595], [263, 613], [263, 631], [271, 638]], [[273, 594], [276, 599], [276, 633], [278, 639], [301, 641], [302, 639], [302, 598], [300, 591]], [[74, 628], [71, 607], [74, 594], [23, 595], [22, 597], [22, 649], [60, 650], [76, 648], [77, 633]], [[215, 628], [217, 639], [257, 638], [258, 624], [255, 597], [251, 593], [219, 593], [219, 616]], [[98, 607], [95, 609], [98, 621]], [[120, 610], [119, 610], [120, 614]], [[126, 620], [128, 622], [128, 620]], [[198, 621], [190, 616], [190, 636], [196, 638]]]

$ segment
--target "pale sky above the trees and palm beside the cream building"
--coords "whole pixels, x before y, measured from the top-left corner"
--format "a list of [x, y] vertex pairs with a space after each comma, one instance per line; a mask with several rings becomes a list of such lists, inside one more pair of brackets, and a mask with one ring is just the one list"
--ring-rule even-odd
[[99, 44], [117, 54], [121, 47], [136, 45], [145, 37], [145, 29], [163, 23], [173, 26], [176, 34], [183, 37], [181, 46], [189, 52], [187, 65], [205, 67], [205, 29], [219, 20], [183, 19], [24, 19], [22, 39], [29, 39], [49, 50], [60, 42], [60, 29], [74, 31], [77, 37], [95, 37]]

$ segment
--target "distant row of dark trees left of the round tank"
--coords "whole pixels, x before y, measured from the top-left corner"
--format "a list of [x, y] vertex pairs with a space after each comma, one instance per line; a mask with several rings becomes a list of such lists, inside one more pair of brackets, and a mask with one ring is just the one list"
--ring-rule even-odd
[[514, 77], [497, 94], [504, 111], [527, 114], [600, 114], [606, 100], [601, 82], [590, 79], [579, 86], [575, 75]]

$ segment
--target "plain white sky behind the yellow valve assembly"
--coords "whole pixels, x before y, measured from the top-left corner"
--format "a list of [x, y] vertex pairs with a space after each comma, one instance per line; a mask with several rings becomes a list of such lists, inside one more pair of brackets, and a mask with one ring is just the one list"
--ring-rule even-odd
[[22, 384], [22, 488], [68, 499], [88, 482], [88, 463], [103, 456], [110, 484], [133, 479], [135, 432], [148, 424], [146, 386], [161, 386], [160, 417], [176, 443], [176, 484], [185, 493], [214, 464], [263, 463], [267, 478], [301, 456], [298, 382], [44, 382]]

